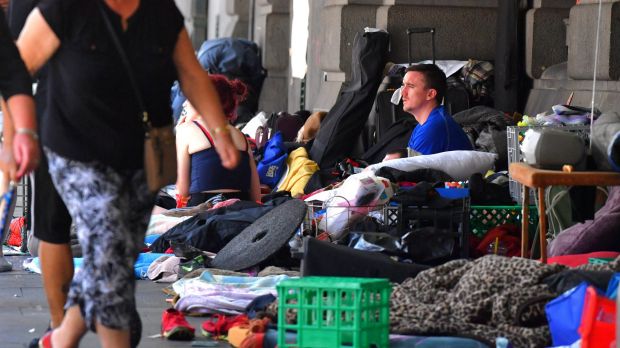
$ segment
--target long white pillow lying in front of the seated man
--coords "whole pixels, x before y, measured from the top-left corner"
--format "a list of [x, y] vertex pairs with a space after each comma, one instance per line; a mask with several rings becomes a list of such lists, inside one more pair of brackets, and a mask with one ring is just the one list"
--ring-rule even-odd
[[416, 169], [430, 168], [441, 170], [454, 180], [464, 181], [474, 173], [485, 174], [493, 169], [497, 154], [482, 151], [446, 151], [433, 155], [421, 155], [407, 158], [397, 158], [373, 164], [367, 170], [376, 172], [379, 168], [390, 167], [405, 172]]

